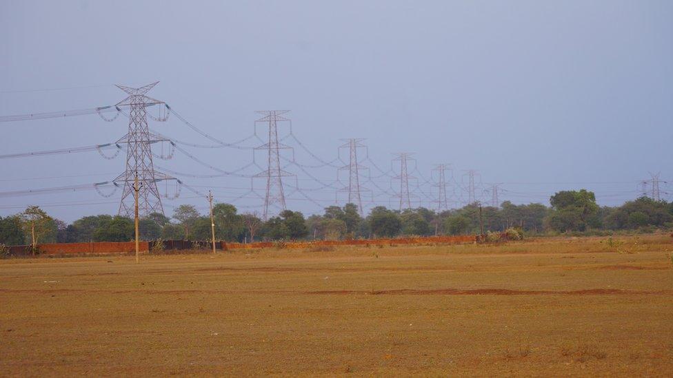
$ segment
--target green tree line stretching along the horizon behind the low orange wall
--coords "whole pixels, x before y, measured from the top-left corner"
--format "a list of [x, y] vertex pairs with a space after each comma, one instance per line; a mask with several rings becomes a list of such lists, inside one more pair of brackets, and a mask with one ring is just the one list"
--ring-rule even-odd
[[[213, 207], [218, 240], [338, 240], [343, 238], [394, 238], [398, 236], [467, 235], [483, 231], [521, 229], [527, 233], [586, 233], [590, 231], [670, 229], [673, 202], [647, 197], [619, 207], [599, 207], [593, 192], [559, 191], [550, 206], [540, 203], [481, 206], [478, 202], [460, 209], [433, 211], [423, 207], [391, 210], [374, 207], [361, 217], [355, 204], [330, 206], [323, 214], [305, 218], [299, 211], [285, 210], [266, 221], [257, 213], [239, 213], [232, 204]], [[142, 240], [210, 240], [210, 216], [190, 204], [174, 209], [169, 218], [152, 213], [140, 220]], [[134, 238], [134, 222], [122, 216], [85, 216], [66, 224], [37, 206], [13, 216], [0, 217], [0, 244], [49, 242], [116, 242]]]

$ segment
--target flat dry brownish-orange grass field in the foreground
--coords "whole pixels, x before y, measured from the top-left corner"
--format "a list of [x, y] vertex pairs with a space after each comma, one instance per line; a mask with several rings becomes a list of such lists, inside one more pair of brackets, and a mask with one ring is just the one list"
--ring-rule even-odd
[[673, 375], [673, 239], [0, 261], [0, 375]]

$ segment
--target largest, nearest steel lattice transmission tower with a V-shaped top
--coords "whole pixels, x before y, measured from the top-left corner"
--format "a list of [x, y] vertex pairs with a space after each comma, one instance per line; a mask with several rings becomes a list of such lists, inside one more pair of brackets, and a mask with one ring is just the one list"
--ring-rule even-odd
[[165, 103], [145, 96], [145, 94], [157, 83], [159, 82], [139, 88], [117, 85], [119, 89], [128, 94], [128, 97], [117, 103], [116, 106], [118, 108], [128, 106], [129, 109], [128, 134], [119, 142], [125, 143], [127, 146], [126, 169], [123, 174], [114, 179], [115, 183], [123, 185], [119, 215], [132, 216], [134, 214], [135, 192], [133, 183], [136, 175], [139, 180], [138, 207], [141, 216], [147, 216], [150, 213], [163, 214], [157, 181], [174, 180], [168, 175], [155, 171], [152, 162], [150, 145], [156, 141], [157, 136], [150, 134], [147, 107]]

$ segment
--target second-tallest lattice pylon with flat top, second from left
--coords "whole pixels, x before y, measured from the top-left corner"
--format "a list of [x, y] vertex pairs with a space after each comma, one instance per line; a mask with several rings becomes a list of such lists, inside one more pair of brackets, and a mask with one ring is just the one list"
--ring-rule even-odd
[[256, 150], [267, 151], [267, 168], [254, 177], [266, 178], [266, 195], [264, 197], [264, 212], [263, 219], [268, 220], [270, 207], [277, 207], [281, 210], [287, 209], [285, 204], [285, 191], [283, 189], [283, 177], [294, 176], [288, 171], [281, 168], [281, 149], [292, 149], [287, 145], [283, 145], [278, 141], [278, 123], [290, 121], [289, 118], [282, 116], [287, 114], [289, 110], [259, 110], [256, 113], [262, 114], [263, 117], [255, 121], [257, 123], [268, 123], [269, 136], [268, 142], [255, 147]]

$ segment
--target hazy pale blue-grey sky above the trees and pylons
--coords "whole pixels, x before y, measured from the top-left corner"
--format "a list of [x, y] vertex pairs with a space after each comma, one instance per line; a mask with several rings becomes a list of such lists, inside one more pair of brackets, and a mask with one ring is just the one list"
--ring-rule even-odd
[[[661, 198], [673, 199], [673, 3], [671, 1], [0, 1], [0, 117], [114, 105], [142, 86], [203, 132], [225, 142], [254, 132], [256, 110], [290, 109], [292, 132], [323, 161], [337, 158], [341, 138], [365, 138], [372, 178], [365, 207], [399, 207], [395, 152], [414, 153], [411, 191], [437, 207], [437, 163], [450, 163], [448, 196], [466, 202], [465, 170], [477, 198], [541, 202], [559, 190], [587, 188], [599, 204], [641, 193], [661, 172]], [[157, 112], [156, 109], [152, 112]], [[106, 114], [112, 116], [113, 114]], [[156, 115], [156, 114], [154, 114]], [[97, 114], [0, 123], [0, 155], [110, 143], [128, 129]], [[150, 129], [189, 143], [212, 144], [181, 123], [150, 119]], [[289, 126], [279, 124], [281, 138]], [[267, 134], [258, 125], [261, 140]], [[292, 143], [290, 143], [292, 142]], [[347, 173], [317, 166], [292, 138], [297, 174], [288, 208], [306, 214], [345, 202], [336, 192]], [[294, 144], [293, 144], [294, 143]], [[156, 146], [156, 147], [155, 147]], [[226, 171], [263, 151], [182, 146]], [[154, 145], [153, 148], [161, 148]], [[165, 146], [168, 150], [168, 145]], [[157, 150], [155, 150], [157, 151]], [[288, 154], [289, 150], [283, 151]], [[103, 151], [108, 157], [114, 151]], [[365, 151], [359, 151], [364, 156]], [[106, 189], [25, 195], [117, 177], [125, 153], [97, 151], [0, 158], [0, 216], [39, 204], [71, 222], [117, 213], [121, 193]], [[348, 159], [348, 150], [341, 150]], [[284, 160], [288, 159], [288, 160]], [[285, 155], [283, 161], [292, 160]], [[176, 151], [158, 167], [217, 174]], [[341, 162], [335, 165], [343, 165]], [[398, 163], [399, 164], [399, 163]], [[388, 171], [391, 169], [392, 171]], [[316, 178], [314, 180], [310, 176]], [[259, 167], [243, 169], [245, 175]], [[366, 169], [363, 169], [366, 172]], [[344, 176], [346, 175], [346, 176]], [[363, 175], [369, 174], [363, 173]], [[167, 215], [202, 194], [259, 210], [265, 182], [179, 176]], [[363, 181], [366, 181], [363, 179]], [[292, 182], [296, 183], [293, 184]], [[374, 187], [376, 185], [376, 187]], [[160, 185], [161, 186], [161, 185]], [[673, 189], [673, 188], [672, 188]], [[175, 185], [160, 187], [168, 196]], [[21, 195], [7, 193], [22, 191]], [[307, 198], [310, 198], [308, 200]], [[373, 201], [372, 201], [373, 200]], [[414, 202], [414, 206], [416, 202]]]

